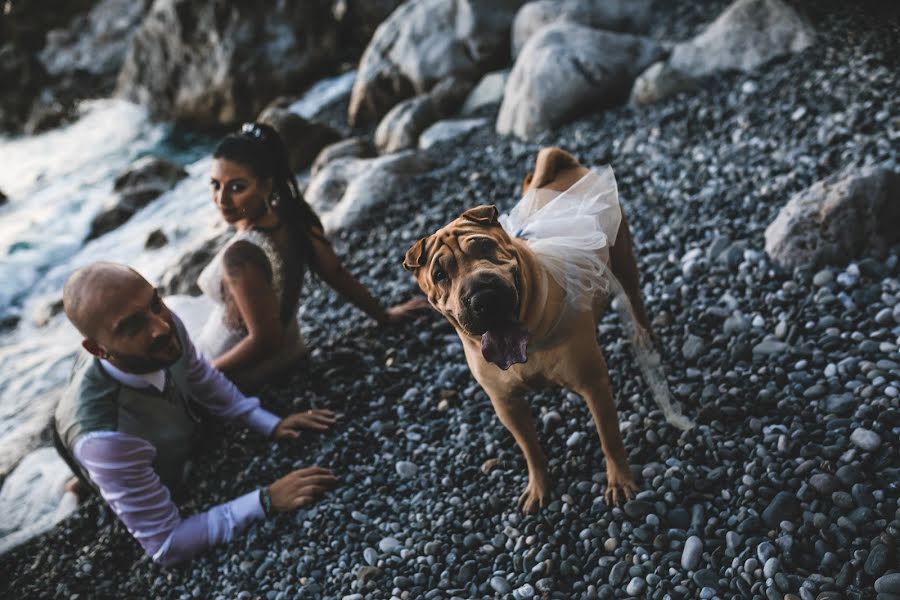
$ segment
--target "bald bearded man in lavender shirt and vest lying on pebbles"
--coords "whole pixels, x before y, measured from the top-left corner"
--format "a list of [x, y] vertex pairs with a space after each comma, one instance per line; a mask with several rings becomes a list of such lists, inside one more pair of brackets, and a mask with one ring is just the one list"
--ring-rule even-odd
[[198, 354], [153, 286], [126, 266], [95, 263], [76, 271], [63, 305], [84, 341], [56, 409], [57, 448], [153, 560], [183, 562], [254, 521], [312, 503], [335, 485], [327, 469], [300, 469], [183, 519], [170, 491], [185, 483], [201, 413], [274, 440], [325, 430], [334, 414], [280, 419], [259, 399], [244, 396]]

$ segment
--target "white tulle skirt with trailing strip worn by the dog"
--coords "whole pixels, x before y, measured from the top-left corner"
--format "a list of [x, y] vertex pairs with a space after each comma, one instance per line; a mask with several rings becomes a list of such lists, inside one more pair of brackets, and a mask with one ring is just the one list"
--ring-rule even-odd
[[659, 353], [637, 322], [622, 284], [608, 267], [609, 249], [615, 245], [622, 223], [612, 168], [590, 170], [562, 192], [532, 188], [499, 221], [509, 235], [526, 240], [541, 266], [565, 290], [566, 308], [557, 327], [565, 322], [566, 312], [590, 310], [599, 292], [608, 294], [666, 420], [679, 429], [693, 427], [673, 401]]

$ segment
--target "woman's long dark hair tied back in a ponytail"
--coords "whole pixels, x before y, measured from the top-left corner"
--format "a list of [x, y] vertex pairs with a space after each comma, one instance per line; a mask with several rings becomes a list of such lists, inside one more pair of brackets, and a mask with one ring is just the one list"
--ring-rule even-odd
[[265, 123], [245, 123], [239, 132], [230, 133], [219, 142], [213, 157], [243, 165], [262, 181], [272, 180], [272, 191], [278, 195], [273, 208], [293, 230], [307, 264], [315, 270], [311, 238], [324, 239], [322, 222], [303, 199], [278, 132]]

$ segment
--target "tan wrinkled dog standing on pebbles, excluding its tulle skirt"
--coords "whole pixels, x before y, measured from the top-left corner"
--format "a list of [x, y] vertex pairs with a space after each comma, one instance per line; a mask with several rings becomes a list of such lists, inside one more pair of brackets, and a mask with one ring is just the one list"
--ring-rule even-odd
[[[545, 148], [538, 153], [534, 173], [525, 178], [523, 191], [564, 191], [587, 172], [567, 152]], [[542, 272], [528, 244], [510, 237], [497, 217], [494, 206], [466, 211], [417, 241], [403, 266], [456, 328], [472, 374], [525, 455], [528, 486], [519, 498], [522, 509], [533, 512], [545, 506], [550, 495], [547, 459], [525, 399], [527, 391], [546, 384], [565, 386], [587, 403], [606, 456], [605, 499], [623, 502], [637, 486], [619, 432], [606, 360], [597, 343], [596, 326], [606, 294], [597, 294], [593, 307], [568, 315], [567, 326], [561, 329], [561, 311], [572, 312], [566, 308], [565, 290]], [[646, 336], [651, 327], [624, 214], [609, 252], [608, 267], [631, 301], [633, 320], [643, 328], [639, 335]], [[527, 356], [526, 345], [530, 345]], [[518, 359], [508, 358], [519, 353]]]

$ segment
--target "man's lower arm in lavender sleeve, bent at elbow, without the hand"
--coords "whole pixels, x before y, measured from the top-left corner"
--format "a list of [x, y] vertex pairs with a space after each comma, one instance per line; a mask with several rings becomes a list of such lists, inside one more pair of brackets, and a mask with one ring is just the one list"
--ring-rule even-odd
[[254, 490], [182, 519], [153, 469], [156, 449], [133, 435], [90, 433], [75, 443], [73, 454], [131, 535], [164, 566], [229, 542], [265, 516]]

